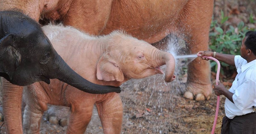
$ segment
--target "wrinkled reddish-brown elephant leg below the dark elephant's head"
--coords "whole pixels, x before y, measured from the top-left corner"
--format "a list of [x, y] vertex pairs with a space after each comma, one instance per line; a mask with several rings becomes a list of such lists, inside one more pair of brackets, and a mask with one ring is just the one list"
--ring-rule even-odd
[[4, 122], [6, 123], [9, 134], [22, 134], [22, 86], [11, 84], [5, 78], [2, 78], [2, 96]]

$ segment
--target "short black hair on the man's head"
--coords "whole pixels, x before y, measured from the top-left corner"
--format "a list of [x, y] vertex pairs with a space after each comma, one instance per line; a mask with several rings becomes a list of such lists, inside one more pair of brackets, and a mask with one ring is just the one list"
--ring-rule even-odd
[[248, 31], [245, 33], [244, 45], [246, 49], [251, 49], [252, 53], [256, 56], [256, 32]]

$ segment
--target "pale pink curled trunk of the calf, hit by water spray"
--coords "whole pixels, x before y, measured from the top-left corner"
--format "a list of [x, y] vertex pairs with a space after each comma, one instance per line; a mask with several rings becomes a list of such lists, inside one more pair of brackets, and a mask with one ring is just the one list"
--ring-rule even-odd
[[164, 81], [171, 82], [176, 76], [174, 75], [175, 70], [175, 59], [172, 54], [158, 50], [157, 57], [159, 59], [159, 65], [166, 65]]

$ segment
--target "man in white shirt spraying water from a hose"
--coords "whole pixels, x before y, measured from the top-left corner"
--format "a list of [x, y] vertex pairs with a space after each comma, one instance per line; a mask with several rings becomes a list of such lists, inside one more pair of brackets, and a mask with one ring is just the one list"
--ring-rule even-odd
[[256, 32], [245, 33], [240, 48], [241, 56], [199, 51], [202, 56], [212, 56], [217, 60], [236, 66], [237, 75], [229, 90], [218, 81], [214, 86], [216, 95], [226, 96], [225, 113], [221, 134], [256, 134]]

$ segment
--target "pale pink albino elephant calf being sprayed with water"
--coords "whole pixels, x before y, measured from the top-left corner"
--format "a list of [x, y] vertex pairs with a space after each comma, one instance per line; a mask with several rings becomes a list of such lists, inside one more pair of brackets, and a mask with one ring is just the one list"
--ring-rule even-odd
[[[44, 26], [43, 30], [64, 61], [93, 83], [120, 86], [131, 78], [164, 74], [159, 68], [164, 64], [165, 81], [175, 79], [175, 61], [171, 54], [123, 32], [94, 37], [72, 27]], [[37, 82], [24, 87], [27, 104], [23, 115], [24, 132], [39, 133], [47, 104], [70, 107], [67, 133], [85, 132], [94, 104], [104, 133], [121, 132], [123, 107], [119, 94], [90, 94], [73, 88], [58, 79], [51, 79], [50, 85]]]

